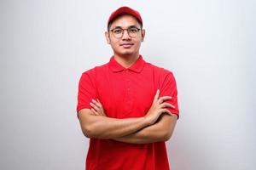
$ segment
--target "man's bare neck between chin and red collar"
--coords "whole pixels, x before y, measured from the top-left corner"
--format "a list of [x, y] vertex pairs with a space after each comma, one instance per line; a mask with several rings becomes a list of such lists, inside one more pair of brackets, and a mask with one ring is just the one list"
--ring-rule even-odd
[[139, 54], [119, 56], [118, 54], [113, 55], [114, 59], [125, 68], [129, 68], [139, 58]]

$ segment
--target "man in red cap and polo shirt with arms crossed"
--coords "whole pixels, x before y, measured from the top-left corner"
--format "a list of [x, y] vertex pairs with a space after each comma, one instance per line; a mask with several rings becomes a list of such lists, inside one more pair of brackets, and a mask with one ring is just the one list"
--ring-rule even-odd
[[90, 138], [86, 169], [169, 169], [165, 142], [179, 113], [172, 72], [139, 54], [145, 30], [134, 9], [115, 10], [105, 36], [113, 56], [79, 81], [77, 112]]

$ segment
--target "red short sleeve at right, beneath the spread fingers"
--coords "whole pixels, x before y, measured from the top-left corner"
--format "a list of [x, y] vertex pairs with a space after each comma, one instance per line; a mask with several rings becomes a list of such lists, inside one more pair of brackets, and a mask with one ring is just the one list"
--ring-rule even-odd
[[168, 107], [167, 110], [169, 110], [172, 114], [176, 114], [177, 118], [179, 118], [179, 110], [177, 104], [177, 85], [172, 72], [168, 72], [162, 85], [160, 86], [160, 97], [162, 96], [172, 96], [172, 99], [166, 100], [165, 102], [174, 105], [175, 108]]

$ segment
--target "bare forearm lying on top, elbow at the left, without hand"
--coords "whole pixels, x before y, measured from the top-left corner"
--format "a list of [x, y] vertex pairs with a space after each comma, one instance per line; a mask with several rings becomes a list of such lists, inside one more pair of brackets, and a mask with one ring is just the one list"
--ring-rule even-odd
[[[85, 114], [80, 114], [84, 116]], [[96, 139], [114, 139], [135, 133], [148, 126], [144, 117], [116, 119], [107, 116], [87, 114], [81, 122], [84, 135]]]

